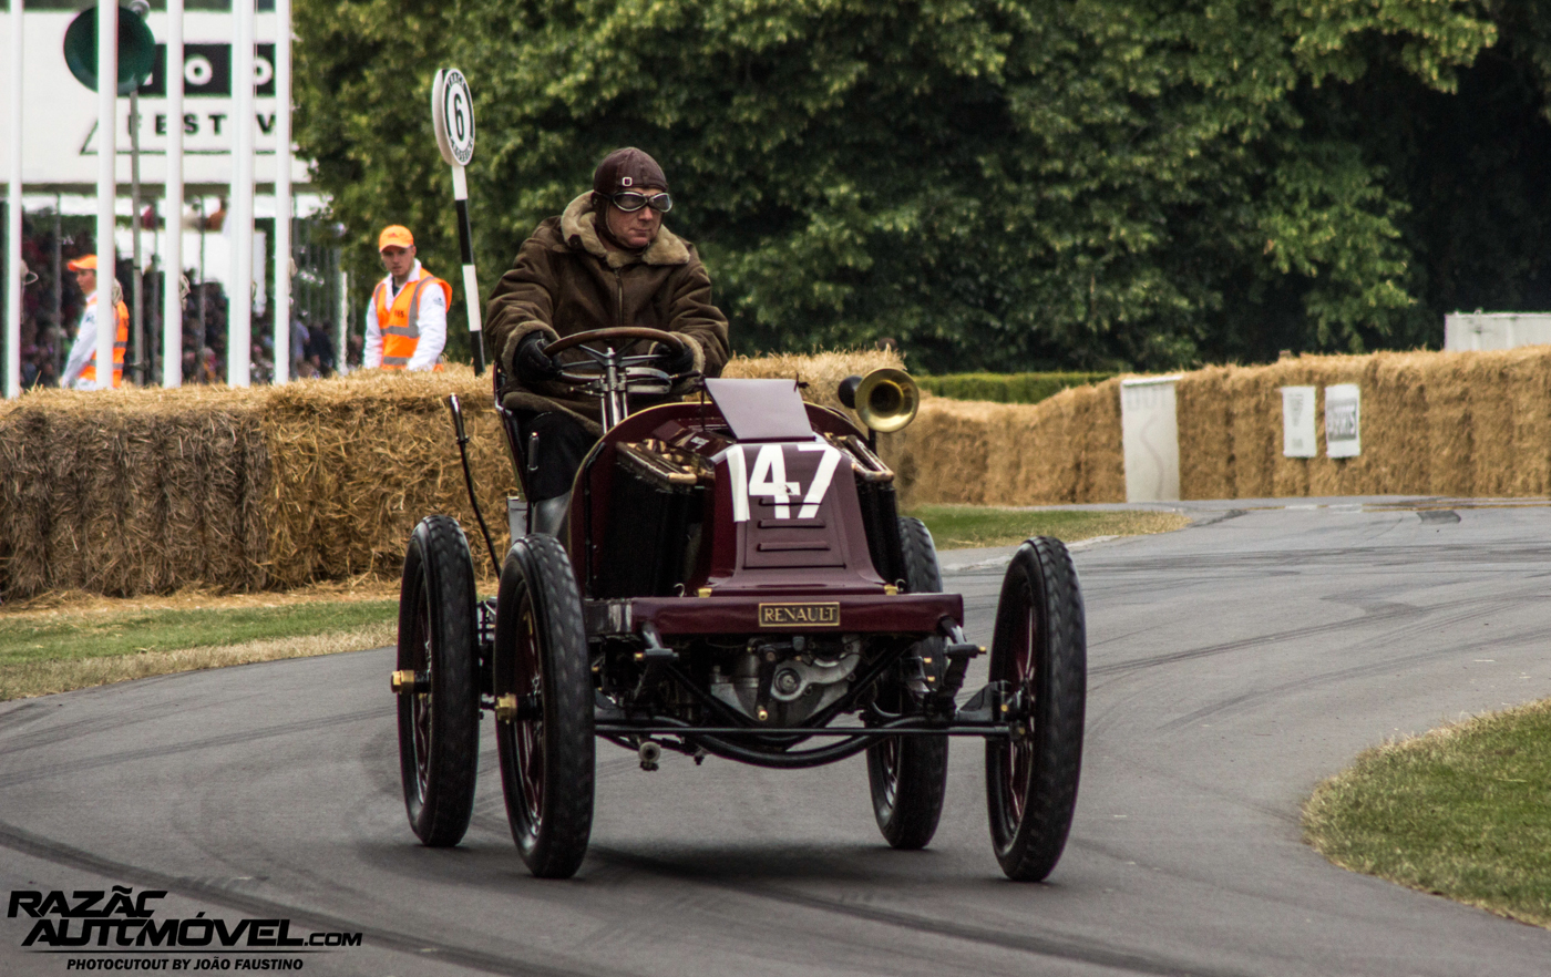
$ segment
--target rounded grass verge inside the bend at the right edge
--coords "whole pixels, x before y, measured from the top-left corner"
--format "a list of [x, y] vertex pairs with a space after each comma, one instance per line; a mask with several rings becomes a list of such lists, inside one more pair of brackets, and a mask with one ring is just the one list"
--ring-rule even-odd
[[1365, 751], [1303, 808], [1343, 868], [1551, 926], [1551, 701]]

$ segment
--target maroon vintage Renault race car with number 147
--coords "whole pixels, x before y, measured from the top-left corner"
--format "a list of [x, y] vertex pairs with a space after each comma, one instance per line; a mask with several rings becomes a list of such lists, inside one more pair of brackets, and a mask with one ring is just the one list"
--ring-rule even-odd
[[[865, 751], [878, 827], [920, 848], [941, 813], [948, 740], [983, 737], [997, 861], [1014, 879], [1045, 878], [1083, 754], [1086, 634], [1066, 547], [1019, 547], [991, 681], [962, 696], [983, 648], [963, 634], [962, 599], [941, 592], [926, 526], [898, 516], [873, 434], [805, 403], [791, 380], [703, 380], [692, 400], [630, 414], [628, 394], [684, 380], [614, 350], [644, 338], [679, 343], [606, 329], [548, 347], [588, 352], [565, 378], [599, 397], [605, 433], [560, 538], [532, 532], [530, 516], [527, 535], [513, 532], [498, 597], [478, 599], [456, 520], [428, 516], [409, 540], [392, 689], [416, 834], [454, 845], [467, 831], [484, 710], [512, 836], [544, 878], [574, 875], [586, 853], [597, 738], [648, 771], [664, 749], [786, 769]], [[853, 377], [841, 395], [873, 431], [915, 416], [900, 371]], [[501, 416], [524, 479], [515, 417]]]

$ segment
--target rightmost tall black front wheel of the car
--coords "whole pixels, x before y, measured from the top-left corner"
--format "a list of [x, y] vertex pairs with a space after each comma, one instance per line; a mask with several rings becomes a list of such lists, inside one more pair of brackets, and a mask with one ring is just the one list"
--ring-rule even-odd
[[1072, 555], [1039, 537], [1013, 555], [996, 608], [991, 681], [1022, 692], [1011, 740], [986, 740], [991, 845], [1008, 878], [1038, 882], [1066, 848], [1083, 769], [1087, 630]]

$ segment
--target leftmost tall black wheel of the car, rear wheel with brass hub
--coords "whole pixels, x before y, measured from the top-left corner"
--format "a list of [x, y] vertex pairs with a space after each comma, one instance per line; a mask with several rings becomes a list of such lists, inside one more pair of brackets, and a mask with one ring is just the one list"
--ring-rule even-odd
[[458, 520], [427, 516], [409, 535], [399, 591], [399, 668], [425, 678], [399, 696], [399, 768], [409, 827], [433, 847], [468, 831], [479, 766], [475, 564]]

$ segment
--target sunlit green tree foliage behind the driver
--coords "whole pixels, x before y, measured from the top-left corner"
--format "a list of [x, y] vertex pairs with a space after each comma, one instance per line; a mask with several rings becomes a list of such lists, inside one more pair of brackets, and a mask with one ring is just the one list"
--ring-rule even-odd
[[448, 276], [427, 91], [439, 65], [462, 68], [487, 290], [597, 160], [641, 146], [740, 352], [892, 337], [932, 371], [1010, 371], [1359, 350], [1411, 341], [1427, 292], [1407, 234], [1416, 183], [1349, 124], [1351, 96], [1455, 98], [1494, 14], [1508, 16], [1477, 0], [304, 0], [298, 141], [358, 242], [357, 274], [377, 274], [372, 239], [402, 222]]

